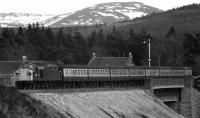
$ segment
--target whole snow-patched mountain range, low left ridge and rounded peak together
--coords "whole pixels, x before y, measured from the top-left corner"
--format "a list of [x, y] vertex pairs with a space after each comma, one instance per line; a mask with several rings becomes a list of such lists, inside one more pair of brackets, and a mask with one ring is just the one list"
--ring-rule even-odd
[[111, 2], [60, 15], [0, 13], [0, 27], [26, 26], [36, 22], [50, 27], [110, 24], [141, 17], [153, 12], [162, 12], [162, 10], [140, 2]]

